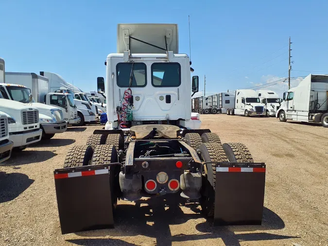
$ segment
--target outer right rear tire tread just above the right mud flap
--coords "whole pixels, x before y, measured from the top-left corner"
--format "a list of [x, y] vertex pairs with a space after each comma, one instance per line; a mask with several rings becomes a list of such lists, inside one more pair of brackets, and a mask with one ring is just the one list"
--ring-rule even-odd
[[251, 152], [246, 145], [240, 142], [224, 143], [222, 144], [222, 148], [229, 162], [254, 162]]

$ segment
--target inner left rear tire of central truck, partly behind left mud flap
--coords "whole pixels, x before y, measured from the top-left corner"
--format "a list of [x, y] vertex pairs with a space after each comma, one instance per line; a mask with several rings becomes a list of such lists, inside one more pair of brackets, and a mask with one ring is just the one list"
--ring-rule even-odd
[[[118, 162], [116, 148], [113, 144], [97, 145], [94, 149], [91, 165], [102, 165], [105, 163]], [[117, 199], [121, 196], [119, 174], [121, 167], [119, 165], [109, 166], [109, 182], [111, 190], [111, 199], [113, 212], [117, 207]]]

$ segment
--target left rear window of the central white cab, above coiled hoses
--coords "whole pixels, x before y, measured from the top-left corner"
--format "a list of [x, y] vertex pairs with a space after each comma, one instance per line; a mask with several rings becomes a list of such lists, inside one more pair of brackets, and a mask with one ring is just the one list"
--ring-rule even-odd
[[[120, 62], [116, 65], [116, 83], [119, 87], [129, 87], [132, 62]], [[146, 64], [136, 62], [133, 66], [131, 87], [145, 87], [147, 85]]]

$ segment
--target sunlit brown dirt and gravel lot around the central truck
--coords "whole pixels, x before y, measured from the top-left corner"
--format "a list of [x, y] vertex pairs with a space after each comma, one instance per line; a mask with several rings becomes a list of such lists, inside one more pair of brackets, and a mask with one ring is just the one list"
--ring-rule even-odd
[[[328, 129], [275, 118], [202, 115], [222, 142], [267, 165], [262, 226], [216, 227], [197, 204], [119, 202], [114, 229], [61, 235], [53, 170], [101, 126], [72, 127], [0, 166], [0, 245], [328, 245]], [[96, 188], [95, 188], [96, 189]]]

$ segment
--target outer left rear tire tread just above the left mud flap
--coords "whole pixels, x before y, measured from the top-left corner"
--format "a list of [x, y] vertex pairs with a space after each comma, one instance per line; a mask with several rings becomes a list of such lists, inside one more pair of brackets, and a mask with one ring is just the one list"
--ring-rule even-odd
[[91, 146], [76, 145], [69, 148], [66, 155], [65, 167], [81, 167], [91, 165], [93, 149]]

